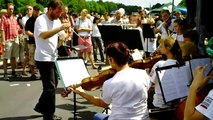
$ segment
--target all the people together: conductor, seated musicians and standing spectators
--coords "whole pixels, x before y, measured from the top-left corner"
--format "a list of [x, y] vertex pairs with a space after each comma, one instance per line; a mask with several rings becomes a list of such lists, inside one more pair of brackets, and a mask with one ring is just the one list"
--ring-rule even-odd
[[[35, 68], [38, 68], [43, 92], [34, 110], [41, 113], [44, 120], [62, 119], [55, 115], [58, 74], [54, 62], [58, 57], [72, 57], [73, 46], [85, 46], [78, 51], [78, 55], [85, 61], [88, 59], [93, 69], [97, 69], [95, 63], [101, 61], [108, 63], [117, 72], [103, 83], [100, 97], [92, 96], [83, 89], [76, 88], [75, 85], [69, 88], [96, 106], [104, 108], [112, 106], [110, 114], [97, 113], [94, 115], [94, 120], [150, 119], [148, 110], [150, 94], [148, 93], [151, 88], [154, 88], [153, 101], [151, 101], [153, 107], [170, 108], [171, 103], [165, 103], [163, 100], [156, 68], [175, 63], [182, 65], [189, 58], [207, 56], [204, 40], [199, 39], [196, 29], [187, 25], [179, 11], [176, 12], [176, 17], [173, 17], [169, 10], [162, 10], [152, 17], [144, 9], [129, 16], [125, 15], [123, 8], [118, 9], [113, 15], [89, 14], [87, 9], [83, 9], [78, 16], [70, 15], [68, 6], [65, 6], [62, 1], [52, 0], [44, 13], [37, 5], [27, 6], [26, 15], [23, 17], [21, 14], [16, 17], [13, 12], [12, 3], [7, 4], [6, 11], [1, 11], [1, 44], [4, 48], [1, 56], [3, 78], [10, 79], [7, 70], [8, 59], [11, 62], [14, 78], [21, 77], [16, 72], [19, 62], [22, 75], [28, 75], [26, 66], [29, 65], [32, 80], [37, 79]], [[144, 39], [143, 24], [149, 24], [153, 29], [152, 38]], [[116, 25], [121, 26], [122, 29], [138, 30], [141, 33], [145, 52], [148, 54], [156, 52], [164, 55], [165, 59], [153, 64], [148, 71], [144, 68], [132, 68], [129, 66], [129, 61], [133, 50], [130, 50], [123, 42], [106, 44], [99, 31], [99, 25]], [[206, 37], [209, 38], [208, 34]], [[196, 94], [211, 78], [211, 76], [204, 76], [205, 70], [206, 66], [198, 66], [195, 69], [194, 80], [186, 98], [184, 111], [186, 120], [213, 119], [212, 90], [201, 104], [195, 105]]]

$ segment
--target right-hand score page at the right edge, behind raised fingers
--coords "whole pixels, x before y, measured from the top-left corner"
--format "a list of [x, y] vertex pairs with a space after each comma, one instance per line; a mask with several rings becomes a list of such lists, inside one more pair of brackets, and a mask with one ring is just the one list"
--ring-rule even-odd
[[[208, 75], [212, 69], [211, 58], [196, 58], [196, 59], [190, 60], [192, 75], [194, 75], [194, 70], [198, 65], [201, 65], [201, 66], [207, 65], [204, 75], [205, 76]], [[209, 83], [213, 83], [213, 78], [209, 81]]]

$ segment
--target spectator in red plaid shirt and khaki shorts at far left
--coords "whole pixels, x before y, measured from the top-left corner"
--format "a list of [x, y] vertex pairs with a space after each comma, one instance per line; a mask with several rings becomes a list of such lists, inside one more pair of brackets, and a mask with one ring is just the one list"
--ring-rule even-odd
[[[2, 45], [4, 46], [3, 54], [3, 69], [4, 69], [4, 80], [9, 80], [7, 73], [7, 60], [10, 59], [12, 66], [12, 77], [19, 77], [16, 73], [16, 59], [19, 55], [19, 41], [18, 35], [21, 31], [20, 26], [13, 15], [14, 5], [12, 3], [7, 4], [7, 13], [2, 16], [0, 23], [0, 30], [2, 34]], [[8, 24], [10, 23], [10, 24]]]

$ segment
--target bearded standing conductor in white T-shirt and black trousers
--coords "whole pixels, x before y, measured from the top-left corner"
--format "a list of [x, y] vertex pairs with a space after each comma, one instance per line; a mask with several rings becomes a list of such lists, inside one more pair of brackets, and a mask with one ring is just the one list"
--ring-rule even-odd
[[58, 76], [54, 61], [57, 57], [58, 37], [67, 37], [64, 30], [68, 23], [61, 24], [58, 19], [64, 11], [61, 0], [52, 0], [48, 4], [47, 13], [40, 15], [35, 21], [34, 37], [36, 43], [35, 61], [39, 69], [43, 92], [34, 110], [43, 114], [43, 120], [61, 120], [55, 113], [55, 91]]

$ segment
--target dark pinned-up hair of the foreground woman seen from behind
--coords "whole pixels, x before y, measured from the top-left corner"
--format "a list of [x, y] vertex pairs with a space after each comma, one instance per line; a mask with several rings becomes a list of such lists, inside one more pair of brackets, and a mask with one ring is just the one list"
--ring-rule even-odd
[[118, 66], [122, 66], [129, 61], [129, 49], [122, 42], [113, 42], [107, 45], [106, 55], [112, 57]]

